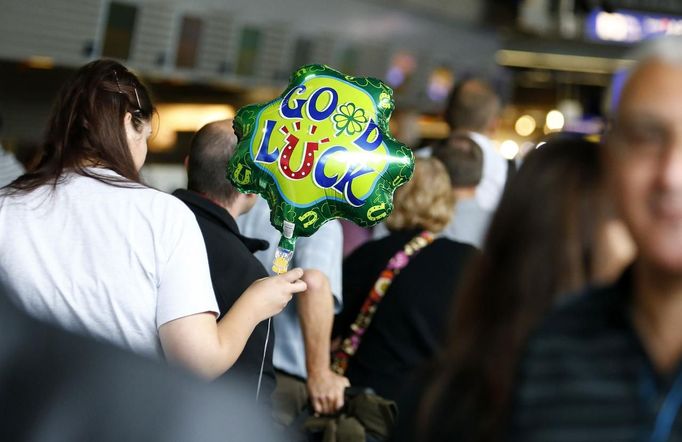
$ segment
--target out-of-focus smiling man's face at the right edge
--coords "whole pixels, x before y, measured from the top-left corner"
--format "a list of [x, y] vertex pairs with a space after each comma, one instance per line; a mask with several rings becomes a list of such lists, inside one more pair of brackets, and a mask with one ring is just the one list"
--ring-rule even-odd
[[643, 262], [682, 275], [682, 67], [650, 62], [623, 90], [609, 139], [623, 217]]

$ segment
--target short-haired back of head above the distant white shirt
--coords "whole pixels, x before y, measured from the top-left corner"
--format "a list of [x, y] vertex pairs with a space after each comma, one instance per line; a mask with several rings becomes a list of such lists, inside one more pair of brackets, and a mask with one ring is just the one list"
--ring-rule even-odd
[[445, 119], [453, 131], [489, 133], [500, 113], [500, 97], [484, 80], [457, 84], [448, 99]]

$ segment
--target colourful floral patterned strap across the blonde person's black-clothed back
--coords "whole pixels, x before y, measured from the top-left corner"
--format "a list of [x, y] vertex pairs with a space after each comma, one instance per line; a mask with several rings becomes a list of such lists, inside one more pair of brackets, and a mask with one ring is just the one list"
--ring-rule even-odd
[[379, 302], [384, 298], [393, 279], [407, 266], [411, 258], [414, 258], [424, 247], [433, 242], [433, 234], [427, 230], [412, 238], [403, 250], [398, 251], [388, 261], [386, 269], [380, 274], [369, 291], [369, 295], [362, 304], [360, 313], [350, 326], [350, 335], [342, 342], [338, 350], [332, 355], [331, 369], [337, 374], [343, 375], [348, 368], [348, 360], [355, 354], [360, 346], [362, 336], [367, 331], [372, 318], [376, 313]]

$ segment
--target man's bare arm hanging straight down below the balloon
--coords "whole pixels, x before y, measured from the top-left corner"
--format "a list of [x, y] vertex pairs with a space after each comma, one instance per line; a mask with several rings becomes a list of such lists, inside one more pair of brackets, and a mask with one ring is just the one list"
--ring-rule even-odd
[[296, 306], [305, 343], [308, 394], [316, 413], [330, 414], [343, 406], [343, 393], [350, 382], [330, 369], [334, 299], [329, 280], [319, 270], [306, 270], [308, 289], [299, 295]]

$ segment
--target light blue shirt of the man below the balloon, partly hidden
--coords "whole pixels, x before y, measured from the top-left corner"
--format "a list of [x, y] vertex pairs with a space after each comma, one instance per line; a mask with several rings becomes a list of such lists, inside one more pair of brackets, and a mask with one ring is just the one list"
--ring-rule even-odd
[[[252, 238], [265, 239], [270, 243], [267, 250], [255, 253], [270, 274], [272, 260], [281, 237], [281, 233], [270, 224], [270, 208], [263, 198], [258, 198], [256, 205], [248, 213], [237, 219], [239, 231]], [[296, 240], [296, 250], [289, 268], [317, 269], [329, 279], [334, 297], [335, 311], [341, 310], [341, 264], [343, 260], [343, 231], [337, 220], [328, 221], [309, 238]], [[278, 370], [289, 374], [307, 377], [305, 366], [305, 344], [301, 323], [296, 309], [296, 296], [284, 310], [273, 318], [275, 328], [275, 349], [272, 363]]]

